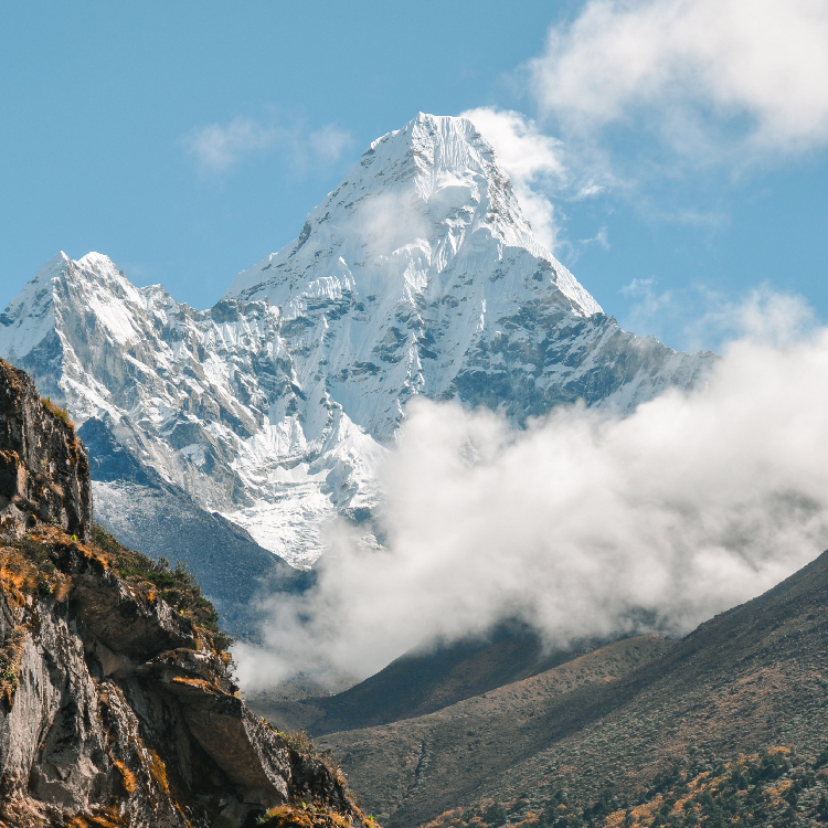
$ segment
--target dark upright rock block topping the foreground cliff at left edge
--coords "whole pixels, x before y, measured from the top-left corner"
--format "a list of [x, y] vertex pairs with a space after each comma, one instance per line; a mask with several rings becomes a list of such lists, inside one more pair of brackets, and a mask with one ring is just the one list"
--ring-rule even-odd
[[19, 537], [38, 523], [88, 540], [89, 461], [65, 413], [0, 361], [0, 528]]

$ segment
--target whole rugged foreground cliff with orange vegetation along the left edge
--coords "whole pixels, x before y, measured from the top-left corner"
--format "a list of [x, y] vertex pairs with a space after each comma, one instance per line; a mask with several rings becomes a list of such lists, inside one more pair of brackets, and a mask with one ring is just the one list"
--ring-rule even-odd
[[93, 531], [83, 445], [4, 364], [0, 424], [0, 826], [361, 825], [238, 698], [187, 577]]

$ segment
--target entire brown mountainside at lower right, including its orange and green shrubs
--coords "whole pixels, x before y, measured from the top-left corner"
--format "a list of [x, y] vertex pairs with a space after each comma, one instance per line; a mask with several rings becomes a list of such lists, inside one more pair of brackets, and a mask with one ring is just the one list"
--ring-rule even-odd
[[[828, 553], [673, 646], [654, 641], [655, 659], [619, 657], [641, 639], [620, 641], [435, 713], [320, 743], [391, 826], [444, 811], [444, 828], [507, 817], [556, 828], [736, 817], [813, 825], [828, 819], [828, 774], [806, 773], [828, 764], [826, 606]], [[581, 678], [564, 680], [573, 672]], [[765, 749], [788, 758], [763, 758]]]

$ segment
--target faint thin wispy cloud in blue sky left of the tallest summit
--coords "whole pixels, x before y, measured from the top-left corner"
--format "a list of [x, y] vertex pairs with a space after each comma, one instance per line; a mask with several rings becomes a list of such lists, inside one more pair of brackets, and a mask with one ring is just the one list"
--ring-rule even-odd
[[211, 124], [184, 136], [185, 149], [205, 172], [224, 172], [256, 152], [280, 149], [300, 167], [333, 163], [353, 146], [350, 132], [332, 124], [316, 130], [267, 126], [252, 118]]

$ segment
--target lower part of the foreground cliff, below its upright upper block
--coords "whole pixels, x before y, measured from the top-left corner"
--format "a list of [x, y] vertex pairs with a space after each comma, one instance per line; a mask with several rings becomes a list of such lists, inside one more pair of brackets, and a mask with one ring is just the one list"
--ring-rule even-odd
[[0, 566], [2, 828], [246, 826], [277, 806], [362, 822], [341, 774], [238, 698], [212, 636], [102, 550], [46, 528]]

